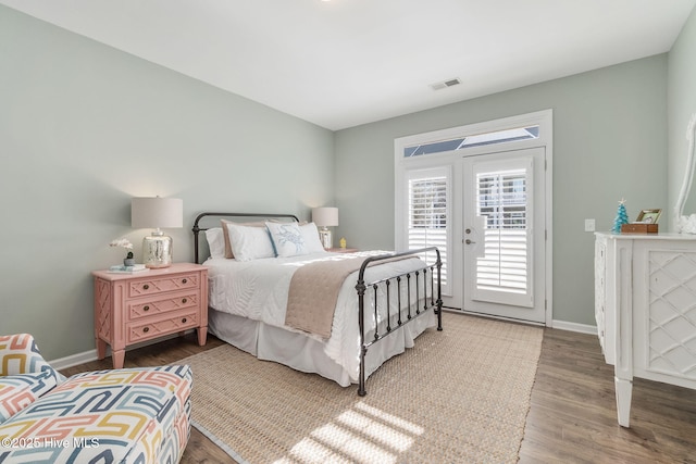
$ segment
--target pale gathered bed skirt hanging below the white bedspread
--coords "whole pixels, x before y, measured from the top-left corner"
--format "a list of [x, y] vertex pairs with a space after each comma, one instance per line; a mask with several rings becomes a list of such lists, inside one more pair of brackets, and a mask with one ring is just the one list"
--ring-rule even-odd
[[[398, 331], [370, 347], [365, 358], [365, 375], [369, 377], [389, 358], [402, 353], [407, 348], [412, 348], [419, 335], [436, 325], [437, 316], [430, 311], [428, 314], [411, 321]], [[221, 340], [260, 360], [274, 361], [296, 371], [319, 374], [341, 387], [358, 384], [358, 372], [347, 372], [326, 355], [321, 341], [303, 334], [215, 311], [212, 308], [208, 311], [208, 329]], [[358, 330], [356, 330], [356, 337], [357, 334]], [[359, 356], [358, 338], [356, 338], [355, 355]]]

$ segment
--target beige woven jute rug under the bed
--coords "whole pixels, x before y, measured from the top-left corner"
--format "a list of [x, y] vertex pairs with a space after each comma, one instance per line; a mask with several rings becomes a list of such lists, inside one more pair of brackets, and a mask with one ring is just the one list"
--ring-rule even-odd
[[514, 463], [538, 327], [446, 313], [366, 383], [339, 387], [229, 346], [194, 369], [194, 425], [249, 463]]

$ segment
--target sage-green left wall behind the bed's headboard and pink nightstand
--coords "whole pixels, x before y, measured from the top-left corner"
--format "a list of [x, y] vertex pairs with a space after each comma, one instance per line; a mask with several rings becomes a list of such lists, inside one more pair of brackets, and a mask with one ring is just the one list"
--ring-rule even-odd
[[92, 269], [117, 264], [130, 198], [201, 211], [333, 202], [333, 133], [0, 7], [0, 334], [47, 359], [95, 349]]

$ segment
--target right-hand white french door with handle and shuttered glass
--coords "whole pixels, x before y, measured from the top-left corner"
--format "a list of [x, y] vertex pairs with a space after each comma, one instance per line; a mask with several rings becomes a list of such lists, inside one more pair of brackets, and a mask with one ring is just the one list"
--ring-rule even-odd
[[463, 310], [545, 323], [545, 149], [463, 159]]

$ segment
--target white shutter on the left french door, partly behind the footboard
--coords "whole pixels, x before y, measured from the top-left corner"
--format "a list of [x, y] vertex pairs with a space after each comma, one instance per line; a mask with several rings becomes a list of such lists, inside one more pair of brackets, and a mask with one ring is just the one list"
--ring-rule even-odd
[[[443, 170], [412, 172], [408, 184], [408, 248], [438, 248], [443, 262], [443, 290], [447, 287], [449, 184], [449, 174]], [[431, 255], [425, 256], [425, 261], [435, 262], [435, 253], [427, 254]]]

